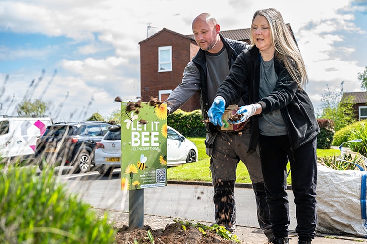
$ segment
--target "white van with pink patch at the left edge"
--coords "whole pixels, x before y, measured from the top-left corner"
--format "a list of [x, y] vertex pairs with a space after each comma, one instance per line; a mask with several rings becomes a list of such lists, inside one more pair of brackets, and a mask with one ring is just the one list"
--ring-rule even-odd
[[49, 117], [0, 116], [0, 157], [34, 158], [37, 139], [51, 124]]

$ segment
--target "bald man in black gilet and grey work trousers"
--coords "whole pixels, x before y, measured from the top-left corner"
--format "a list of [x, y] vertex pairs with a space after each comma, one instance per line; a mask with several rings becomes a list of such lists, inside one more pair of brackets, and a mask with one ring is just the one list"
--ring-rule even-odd
[[[173, 113], [201, 91], [201, 109], [204, 121], [208, 121], [207, 111], [213, 103], [219, 85], [229, 74], [230, 66], [237, 56], [250, 45], [245, 42], [224, 38], [220, 25], [209, 13], [198, 15], [192, 22], [192, 32], [200, 47], [196, 56], [184, 70], [184, 78], [171, 92], [166, 103], [168, 113]], [[248, 105], [247, 95], [233, 105]], [[260, 228], [271, 239], [269, 209], [266, 203], [264, 179], [260, 157], [256, 151], [249, 151], [250, 126], [240, 126], [236, 130], [223, 130], [212, 123], [206, 125], [206, 154], [210, 156], [210, 171], [214, 186], [215, 223], [234, 231], [236, 224], [236, 204], [234, 186], [237, 164], [242, 161], [248, 169], [252, 188], [256, 197], [257, 217]]]

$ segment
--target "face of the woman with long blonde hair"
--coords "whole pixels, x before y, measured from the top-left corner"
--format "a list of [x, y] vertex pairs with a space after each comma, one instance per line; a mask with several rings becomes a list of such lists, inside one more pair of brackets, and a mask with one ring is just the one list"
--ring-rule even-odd
[[268, 20], [262, 15], [257, 15], [253, 20], [252, 26], [252, 38], [256, 47], [260, 52], [274, 53], [274, 47], [270, 41], [270, 27]]

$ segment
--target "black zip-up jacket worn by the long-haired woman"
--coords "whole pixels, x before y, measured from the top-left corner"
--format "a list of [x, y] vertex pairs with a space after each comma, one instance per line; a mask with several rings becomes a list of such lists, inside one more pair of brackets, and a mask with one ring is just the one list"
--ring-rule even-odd
[[[261, 104], [262, 113], [280, 109], [291, 149], [294, 150], [317, 136], [320, 128], [310, 98], [303, 89], [299, 89], [282, 61], [274, 58], [274, 69], [278, 75], [275, 88], [267, 97], [259, 100], [260, 52], [256, 46], [244, 50], [232, 65], [229, 76], [223, 81], [216, 95], [222, 96], [226, 104], [230, 104], [241, 96], [240, 88], [248, 86], [249, 102]], [[249, 150], [254, 150], [259, 137], [258, 116], [252, 116], [250, 122]]]

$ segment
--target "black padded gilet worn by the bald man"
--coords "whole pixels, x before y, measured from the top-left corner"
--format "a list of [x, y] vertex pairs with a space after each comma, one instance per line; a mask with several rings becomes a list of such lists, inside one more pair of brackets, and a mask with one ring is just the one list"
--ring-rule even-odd
[[[236, 60], [237, 56], [242, 52], [242, 50], [250, 48], [250, 45], [247, 44], [246, 42], [236, 41], [236, 40], [225, 38], [220, 33], [219, 33], [219, 36], [220, 36], [220, 38], [223, 42], [224, 47], [227, 50], [228, 66], [229, 66], [229, 69], [230, 69], [230, 67], [232, 66], [232, 64]], [[207, 120], [208, 119], [207, 112], [208, 112], [211, 104], [209, 104], [208, 94], [207, 94], [208, 83], [207, 83], [207, 70], [206, 70], [205, 51], [203, 51], [202, 49], [199, 49], [197, 54], [192, 58], [192, 61], [197, 66], [197, 68], [199, 69], [199, 72], [200, 72], [200, 83], [201, 83], [201, 87], [200, 87], [201, 99], [200, 99], [200, 102], [201, 102], [201, 109], [202, 109], [202, 115], [203, 115], [204, 120]], [[248, 104], [249, 99], [248, 99], [248, 96], [247, 96], [247, 92], [245, 92], [242, 95], [242, 99], [245, 102], [245, 104]], [[230, 104], [230, 103], [226, 103], [226, 104]], [[208, 132], [215, 132], [216, 131], [215, 126], [212, 123], [205, 123], [205, 125], [206, 125], [206, 130]]]

